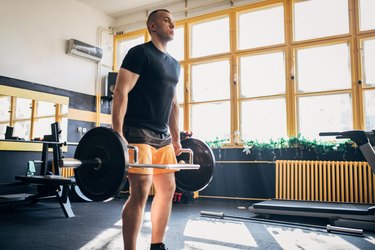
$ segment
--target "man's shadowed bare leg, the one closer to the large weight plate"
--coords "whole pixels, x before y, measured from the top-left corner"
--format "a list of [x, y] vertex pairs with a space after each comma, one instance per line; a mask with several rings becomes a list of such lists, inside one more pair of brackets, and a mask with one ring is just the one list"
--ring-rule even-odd
[[152, 175], [128, 174], [130, 196], [122, 211], [124, 249], [135, 250], [143, 212], [152, 185]]

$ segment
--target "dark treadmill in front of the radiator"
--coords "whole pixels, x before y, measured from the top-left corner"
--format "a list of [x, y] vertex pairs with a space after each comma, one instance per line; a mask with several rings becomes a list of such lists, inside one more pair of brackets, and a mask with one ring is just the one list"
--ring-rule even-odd
[[[375, 174], [375, 130], [322, 132], [319, 135], [336, 136], [337, 139], [345, 138], [354, 141]], [[263, 216], [290, 215], [328, 218], [335, 225], [350, 225], [353, 228], [375, 230], [375, 204], [273, 199], [255, 203], [249, 207], [249, 210]]]

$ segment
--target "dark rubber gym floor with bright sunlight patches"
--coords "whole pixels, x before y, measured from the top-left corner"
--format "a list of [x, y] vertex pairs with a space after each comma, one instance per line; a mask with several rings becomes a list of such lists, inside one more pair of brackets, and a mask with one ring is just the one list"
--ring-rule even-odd
[[[34, 204], [0, 206], [0, 249], [122, 249], [121, 209], [126, 197], [109, 202], [73, 202], [73, 218], [65, 218], [54, 199]], [[150, 244], [147, 204], [138, 249]], [[201, 217], [201, 211], [252, 217], [244, 201], [196, 199], [174, 204], [165, 244], [181, 249], [375, 249], [375, 232], [363, 237], [327, 233], [317, 228]], [[281, 218], [282, 219], [282, 218]], [[280, 220], [280, 218], [278, 218]], [[294, 222], [326, 225], [324, 219], [294, 218]]]

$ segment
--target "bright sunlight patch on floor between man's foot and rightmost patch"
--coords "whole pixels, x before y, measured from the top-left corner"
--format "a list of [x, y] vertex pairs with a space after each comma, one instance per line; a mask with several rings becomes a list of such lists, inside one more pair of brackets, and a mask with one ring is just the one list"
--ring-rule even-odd
[[[216, 242], [242, 245], [246, 247], [257, 247], [253, 236], [242, 222], [219, 222], [216, 220], [189, 220], [186, 223], [184, 237], [202, 239], [204, 241], [212, 240]], [[201, 244], [194, 242], [194, 244]], [[210, 244], [208, 244], [210, 245]], [[215, 249], [218, 249], [218, 245]], [[196, 249], [211, 249], [203, 246]], [[230, 248], [220, 248], [230, 249]]]

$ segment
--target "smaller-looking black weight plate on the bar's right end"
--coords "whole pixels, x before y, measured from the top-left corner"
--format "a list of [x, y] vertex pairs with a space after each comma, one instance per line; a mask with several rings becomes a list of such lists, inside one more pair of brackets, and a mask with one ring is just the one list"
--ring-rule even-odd
[[[215, 167], [215, 158], [211, 148], [204, 142], [187, 138], [181, 141], [182, 148], [190, 148], [194, 152], [194, 164], [199, 164], [198, 170], [181, 170], [175, 173], [176, 186], [185, 192], [198, 192], [203, 190], [212, 180]], [[177, 156], [177, 161], [189, 161], [189, 154]]]

